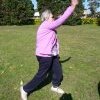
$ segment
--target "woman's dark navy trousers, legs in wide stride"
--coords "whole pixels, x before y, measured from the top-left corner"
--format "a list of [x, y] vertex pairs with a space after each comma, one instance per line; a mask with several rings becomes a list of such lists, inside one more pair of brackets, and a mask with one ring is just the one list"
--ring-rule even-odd
[[62, 79], [62, 68], [59, 62], [58, 56], [52, 57], [40, 57], [37, 56], [39, 62], [39, 69], [34, 78], [23, 86], [25, 92], [30, 93], [43, 82], [48, 72], [52, 71], [52, 84], [53, 86], [59, 86]]

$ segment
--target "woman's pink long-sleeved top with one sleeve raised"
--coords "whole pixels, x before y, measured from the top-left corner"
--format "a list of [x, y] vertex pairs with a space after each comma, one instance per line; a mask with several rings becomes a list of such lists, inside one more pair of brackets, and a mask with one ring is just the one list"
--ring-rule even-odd
[[59, 54], [59, 43], [55, 29], [62, 25], [72, 14], [74, 8], [69, 6], [64, 14], [54, 21], [44, 21], [37, 31], [36, 55], [42, 57], [51, 57]]

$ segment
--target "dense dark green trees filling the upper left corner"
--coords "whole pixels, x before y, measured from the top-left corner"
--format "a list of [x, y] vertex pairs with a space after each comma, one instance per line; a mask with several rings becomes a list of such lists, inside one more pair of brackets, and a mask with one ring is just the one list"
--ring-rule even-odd
[[[29, 24], [28, 20], [33, 17], [33, 4], [31, 0], [1, 0], [0, 14], [2, 13], [3, 25]], [[0, 2], [1, 2], [0, 1]]]

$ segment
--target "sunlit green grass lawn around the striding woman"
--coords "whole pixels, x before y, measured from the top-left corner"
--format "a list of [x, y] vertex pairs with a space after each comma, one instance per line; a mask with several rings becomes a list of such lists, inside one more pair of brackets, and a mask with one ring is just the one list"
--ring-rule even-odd
[[[20, 81], [27, 83], [37, 72], [36, 30], [37, 26], [0, 26], [0, 100], [20, 100]], [[68, 99], [51, 92], [51, 83], [28, 99], [100, 100], [100, 27], [62, 26], [58, 38], [64, 75], [61, 87]]]

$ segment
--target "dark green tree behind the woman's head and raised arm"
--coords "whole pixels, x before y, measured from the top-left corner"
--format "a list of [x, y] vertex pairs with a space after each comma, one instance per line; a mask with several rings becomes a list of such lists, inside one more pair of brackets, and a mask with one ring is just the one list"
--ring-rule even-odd
[[[37, 0], [38, 2], [38, 10], [40, 13], [45, 9], [50, 9], [54, 16], [61, 15], [65, 9], [69, 6], [70, 0]], [[76, 25], [81, 24], [81, 16], [83, 14], [83, 5], [82, 1], [80, 0], [79, 5], [76, 8], [73, 16], [69, 18], [66, 22], [68, 25]]]

